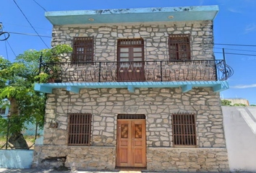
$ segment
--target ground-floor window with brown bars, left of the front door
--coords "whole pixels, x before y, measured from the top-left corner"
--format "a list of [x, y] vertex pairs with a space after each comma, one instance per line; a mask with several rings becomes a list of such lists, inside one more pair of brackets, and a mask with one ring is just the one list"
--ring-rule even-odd
[[90, 146], [91, 114], [69, 114], [69, 146]]

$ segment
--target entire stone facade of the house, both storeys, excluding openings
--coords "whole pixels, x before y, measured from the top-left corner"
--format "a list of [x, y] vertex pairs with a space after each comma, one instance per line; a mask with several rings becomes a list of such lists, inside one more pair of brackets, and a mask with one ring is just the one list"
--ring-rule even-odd
[[[93, 36], [94, 61], [110, 62], [117, 60], [118, 39], [142, 37], [145, 61], [168, 60], [168, 34], [190, 34], [192, 60], [215, 58], [212, 21], [56, 25], [52, 45], [72, 45], [73, 37]], [[63, 55], [61, 61], [70, 62], [71, 57]], [[179, 64], [177, 68], [187, 67]], [[201, 79], [194, 79], [198, 80]], [[185, 93], [181, 88], [140, 88], [134, 93], [127, 89], [80, 89], [79, 94], [53, 89], [47, 95], [43, 145], [35, 146], [34, 167], [113, 170], [117, 115], [145, 114], [148, 170], [225, 172], [229, 169], [221, 102], [219, 94], [210, 87], [194, 87]], [[67, 145], [69, 113], [92, 114], [90, 146]], [[174, 147], [171, 128], [174, 113], [196, 115], [197, 147]], [[58, 128], [49, 128], [50, 123], [58, 123]]]

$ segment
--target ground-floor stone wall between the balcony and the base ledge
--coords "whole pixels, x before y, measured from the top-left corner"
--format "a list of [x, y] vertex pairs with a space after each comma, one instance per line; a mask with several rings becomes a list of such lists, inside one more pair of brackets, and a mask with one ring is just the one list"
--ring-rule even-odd
[[[147, 146], [172, 147], [171, 114], [195, 113], [198, 147], [225, 148], [219, 94], [211, 88], [187, 93], [175, 88], [81, 89], [80, 94], [54, 89], [46, 102], [45, 145], [67, 146], [68, 113], [91, 113], [92, 146], [116, 145], [118, 114], [145, 114]], [[49, 128], [52, 122], [58, 128]]]

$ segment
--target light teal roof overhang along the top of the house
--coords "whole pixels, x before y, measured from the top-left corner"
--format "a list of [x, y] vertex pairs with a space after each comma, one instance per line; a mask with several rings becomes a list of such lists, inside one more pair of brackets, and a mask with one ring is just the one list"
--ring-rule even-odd
[[72, 25], [213, 20], [217, 13], [218, 6], [215, 5], [46, 12], [46, 18], [52, 25]]

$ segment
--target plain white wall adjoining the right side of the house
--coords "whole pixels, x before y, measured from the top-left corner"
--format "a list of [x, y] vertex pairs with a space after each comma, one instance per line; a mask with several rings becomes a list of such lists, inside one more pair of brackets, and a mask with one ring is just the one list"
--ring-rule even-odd
[[256, 172], [256, 107], [222, 107], [231, 172]]

